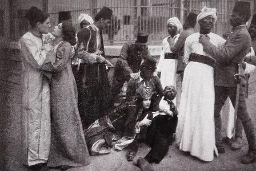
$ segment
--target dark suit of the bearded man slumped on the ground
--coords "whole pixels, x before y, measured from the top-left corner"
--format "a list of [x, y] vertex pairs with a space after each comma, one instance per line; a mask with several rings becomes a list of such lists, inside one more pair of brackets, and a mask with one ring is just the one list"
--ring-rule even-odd
[[152, 163], [159, 163], [169, 150], [169, 145], [173, 143], [173, 134], [176, 131], [178, 123], [177, 108], [171, 101], [170, 111], [174, 113], [174, 117], [169, 115], [158, 115], [153, 118], [153, 113], [145, 111], [142, 113], [139, 120], [143, 120], [148, 114], [147, 119], [152, 120], [149, 127], [142, 127], [141, 132], [136, 135], [135, 140], [130, 145], [130, 152], [137, 153], [138, 145], [145, 142], [151, 147], [150, 152], [145, 159]]

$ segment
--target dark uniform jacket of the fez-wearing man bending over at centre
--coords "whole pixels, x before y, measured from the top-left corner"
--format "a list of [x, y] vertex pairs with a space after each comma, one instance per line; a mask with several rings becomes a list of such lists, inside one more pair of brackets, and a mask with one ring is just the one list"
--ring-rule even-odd
[[115, 65], [115, 75], [119, 77], [129, 77], [131, 73], [139, 72], [142, 59], [150, 59], [149, 49], [146, 47], [143, 51], [136, 49], [135, 43], [127, 43], [123, 45], [120, 58]]

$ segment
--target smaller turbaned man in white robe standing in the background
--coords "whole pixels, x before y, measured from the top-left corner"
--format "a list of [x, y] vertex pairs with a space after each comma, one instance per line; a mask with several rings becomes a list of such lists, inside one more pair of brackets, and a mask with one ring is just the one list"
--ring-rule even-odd
[[[163, 87], [176, 87], [178, 54], [171, 52], [170, 46], [178, 40], [179, 33], [182, 32], [182, 24], [177, 17], [170, 18], [167, 21], [167, 30], [170, 35], [163, 39], [163, 48], [157, 66], [157, 72], [159, 73]], [[173, 102], [176, 104], [176, 99]]]

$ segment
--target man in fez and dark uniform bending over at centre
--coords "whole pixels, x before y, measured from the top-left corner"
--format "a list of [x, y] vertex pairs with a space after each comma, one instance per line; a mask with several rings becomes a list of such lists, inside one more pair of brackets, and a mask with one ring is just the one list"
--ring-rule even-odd
[[111, 85], [113, 100], [121, 91], [123, 83], [128, 82], [130, 79], [135, 80], [139, 78], [139, 68], [142, 62], [146, 59], [151, 59], [146, 44], [148, 36], [149, 34], [146, 32], [138, 32], [137, 40], [134, 43], [123, 45], [120, 58], [115, 64], [113, 83]]

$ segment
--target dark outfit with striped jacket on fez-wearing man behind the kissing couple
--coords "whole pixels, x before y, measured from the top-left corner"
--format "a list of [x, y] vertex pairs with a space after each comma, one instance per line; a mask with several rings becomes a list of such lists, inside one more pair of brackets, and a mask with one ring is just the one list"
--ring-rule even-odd
[[[98, 33], [100, 36], [98, 36]], [[97, 43], [97, 36], [100, 39]], [[78, 32], [78, 47], [85, 46], [87, 56], [97, 54], [104, 56], [102, 32], [87, 26]], [[106, 115], [110, 108], [110, 86], [107, 79], [105, 63], [82, 60], [77, 78], [78, 109], [83, 129], [89, 127], [99, 117]]]

